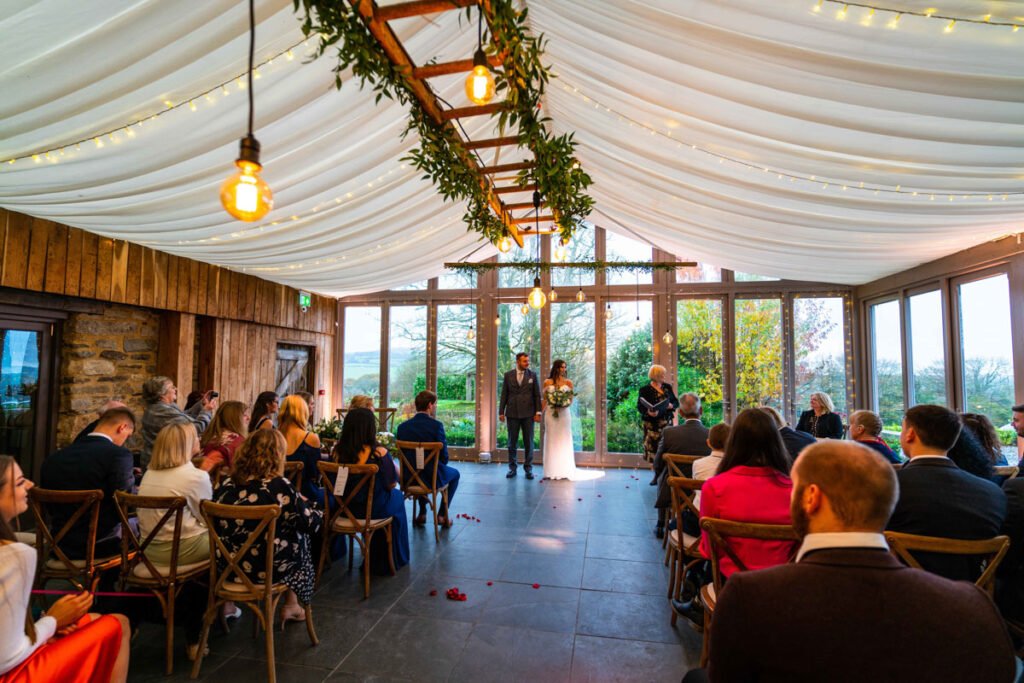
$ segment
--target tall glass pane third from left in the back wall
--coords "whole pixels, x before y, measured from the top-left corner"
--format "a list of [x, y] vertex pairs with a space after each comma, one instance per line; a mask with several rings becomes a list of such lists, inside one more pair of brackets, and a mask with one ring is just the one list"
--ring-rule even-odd
[[449, 445], [476, 444], [476, 306], [437, 306], [437, 419]]

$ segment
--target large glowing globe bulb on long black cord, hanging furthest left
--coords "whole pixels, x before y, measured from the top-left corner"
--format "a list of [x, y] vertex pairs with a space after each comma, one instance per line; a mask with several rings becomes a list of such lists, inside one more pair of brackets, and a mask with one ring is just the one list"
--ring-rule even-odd
[[273, 208], [273, 193], [260, 177], [259, 140], [253, 136], [253, 53], [256, 49], [256, 10], [249, 0], [249, 132], [239, 144], [237, 173], [220, 186], [220, 203], [239, 220], [259, 220]]

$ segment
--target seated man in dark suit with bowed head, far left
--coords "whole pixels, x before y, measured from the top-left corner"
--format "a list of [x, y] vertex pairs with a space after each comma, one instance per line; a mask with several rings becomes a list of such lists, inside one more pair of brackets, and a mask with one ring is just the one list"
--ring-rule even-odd
[[[81, 441], [57, 451], [43, 461], [42, 486], [55, 490], [98, 488], [99, 502], [94, 557], [111, 557], [121, 552], [121, 518], [114, 504], [114, 492], [131, 493], [135, 487], [132, 455], [124, 442], [135, 431], [135, 416], [127, 408], [114, 408], [99, 418], [95, 430]], [[51, 506], [54, 533], [71, 519], [75, 505]], [[72, 559], [83, 559], [89, 542], [89, 518], [79, 517], [60, 541]]]

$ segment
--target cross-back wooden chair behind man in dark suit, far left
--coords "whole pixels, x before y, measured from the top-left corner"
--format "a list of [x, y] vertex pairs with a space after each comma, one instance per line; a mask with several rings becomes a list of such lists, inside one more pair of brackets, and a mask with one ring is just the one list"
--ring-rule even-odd
[[[88, 490], [52, 490], [34, 487], [29, 492], [29, 507], [36, 521], [36, 550], [39, 559], [36, 569], [37, 588], [45, 588], [46, 583], [59, 579], [70, 582], [80, 591], [95, 592], [102, 572], [115, 569], [121, 564], [121, 554], [96, 557], [96, 527], [99, 524], [99, 504], [103, 492], [99, 488]], [[51, 527], [51, 513], [54, 507], [74, 507], [63, 525], [54, 531]], [[60, 547], [61, 541], [80, 520], [85, 519], [88, 530], [85, 557], [72, 559]]]

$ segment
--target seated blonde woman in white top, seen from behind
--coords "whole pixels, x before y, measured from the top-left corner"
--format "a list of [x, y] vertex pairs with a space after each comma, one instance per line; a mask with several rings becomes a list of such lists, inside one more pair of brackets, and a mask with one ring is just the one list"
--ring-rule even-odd
[[[157, 434], [150, 468], [138, 484], [139, 496], [180, 496], [187, 502], [181, 515], [179, 565], [202, 562], [210, 557], [210, 540], [199, 506], [201, 501], [213, 498], [213, 486], [209, 475], [191, 464], [193, 456], [198, 453], [199, 439], [191, 425], [182, 422], [167, 425]], [[139, 535], [145, 538], [163, 514], [163, 511], [139, 510]], [[160, 535], [146, 547], [146, 557], [156, 564], [170, 564], [173, 539], [173, 523], [164, 524]], [[199, 641], [199, 634], [196, 636], [193, 642]]]

